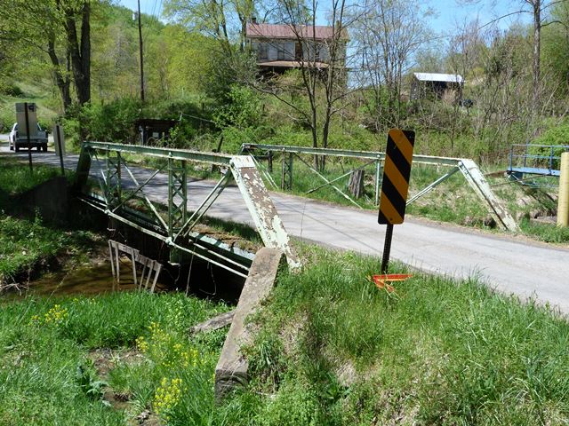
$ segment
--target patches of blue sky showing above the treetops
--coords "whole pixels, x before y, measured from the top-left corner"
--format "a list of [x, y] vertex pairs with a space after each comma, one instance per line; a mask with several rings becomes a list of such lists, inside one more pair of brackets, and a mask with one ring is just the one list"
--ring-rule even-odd
[[[119, 0], [125, 7], [137, 9], [137, 0]], [[325, 0], [320, 4], [325, 5]], [[448, 33], [461, 26], [465, 21], [478, 17], [480, 25], [491, 20], [521, 9], [522, 0], [430, 0], [429, 7], [434, 15], [429, 17], [430, 26], [437, 33]], [[163, 0], [140, 0], [140, 9], [144, 13], [160, 17], [163, 10]], [[529, 13], [517, 14], [499, 21], [499, 28], [508, 28], [513, 22], [531, 21]]]

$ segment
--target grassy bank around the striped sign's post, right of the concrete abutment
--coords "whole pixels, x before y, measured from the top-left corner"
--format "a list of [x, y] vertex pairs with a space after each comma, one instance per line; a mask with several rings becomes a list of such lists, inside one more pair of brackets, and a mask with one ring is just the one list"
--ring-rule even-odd
[[388, 293], [365, 279], [377, 259], [308, 255], [255, 320], [235, 424], [569, 422], [565, 319], [476, 280], [417, 274]]

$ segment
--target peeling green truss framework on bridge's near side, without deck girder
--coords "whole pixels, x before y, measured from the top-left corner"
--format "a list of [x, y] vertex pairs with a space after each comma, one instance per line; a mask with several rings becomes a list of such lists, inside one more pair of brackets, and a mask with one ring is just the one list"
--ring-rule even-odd
[[[269, 248], [278, 248], [287, 256], [288, 262], [293, 267], [300, 266], [300, 261], [294, 249], [290, 245], [288, 233], [284, 229], [284, 225], [277, 214], [276, 208], [268, 195], [267, 188], [263, 184], [260, 173], [256, 168], [252, 158], [248, 155], [226, 155], [217, 153], [203, 153], [190, 150], [158, 148], [154, 146], [130, 146], [114, 143], [103, 142], [84, 142], [77, 163], [77, 181], [78, 188], [85, 186], [91, 168], [92, 158], [97, 158], [97, 153], [102, 152], [106, 155], [107, 162], [104, 164], [105, 170], [101, 170], [102, 181], [100, 180], [101, 192], [105, 195], [103, 200], [104, 204], [101, 205], [100, 201], [96, 200], [96, 196], [87, 196], [85, 201], [93, 207], [101, 209], [109, 217], [114, 217], [117, 220], [124, 222], [127, 225], [132, 225], [143, 233], [148, 233], [160, 240], [166, 242], [172, 248], [179, 249], [188, 253], [196, 254], [207, 258], [212, 264], [220, 264], [212, 256], [220, 257], [219, 253], [209, 253], [209, 250], [204, 245], [196, 242], [196, 233], [191, 230], [196, 223], [204, 217], [205, 212], [209, 209], [213, 202], [219, 197], [223, 189], [228, 185], [230, 178], [235, 179], [236, 185], [239, 188], [244, 204], [249, 210], [253, 222], [260, 233], [261, 240], [264, 245]], [[124, 161], [121, 161], [121, 155], [124, 153], [129, 154], [142, 154], [151, 155], [158, 158], [164, 158], [167, 162], [168, 171], [168, 206], [167, 206], [167, 220], [158, 214], [156, 207], [148, 199], [143, 188], [148, 185], [148, 182], [157, 175], [159, 170], [148, 177], [142, 185], [139, 184], [138, 179], [134, 177], [132, 171], [126, 167]], [[109, 160], [110, 159], [110, 160]], [[187, 162], [206, 162], [218, 166], [228, 167], [230, 170], [224, 177], [221, 178], [218, 185], [215, 186], [212, 193], [200, 204], [198, 209], [193, 214], [188, 216], [188, 178], [187, 178]], [[125, 205], [128, 200], [121, 200], [110, 202], [109, 191], [118, 188], [118, 193], [121, 191], [121, 167], [123, 167], [128, 175], [132, 178], [132, 182], [136, 185], [134, 193], [141, 193], [147, 204], [152, 209], [156, 218], [147, 217], [145, 214], [140, 214], [137, 210], [132, 210]], [[114, 180], [113, 180], [114, 179]], [[129, 195], [132, 198], [133, 194]], [[129, 198], [127, 197], [127, 199]], [[180, 238], [183, 237], [183, 238]], [[223, 257], [223, 256], [221, 256]], [[249, 261], [249, 260], [248, 260]], [[242, 275], [243, 272], [238, 272], [233, 266], [236, 262], [228, 257], [223, 258], [224, 264], [220, 264], [225, 269], [236, 272]], [[237, 265], [237, 268], [243, 268], [242, 265]]]

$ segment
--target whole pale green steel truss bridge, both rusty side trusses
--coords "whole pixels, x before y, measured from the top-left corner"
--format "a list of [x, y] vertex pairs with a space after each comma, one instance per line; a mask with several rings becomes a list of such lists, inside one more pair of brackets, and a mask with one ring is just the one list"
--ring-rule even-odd
[[[331, 186], [358, 207], [361, 206], [357, 204], [357, 201], [334, 185], [341, 178], [348, 177], [354, 170], [329, 180], [303, 159], [301, 154], [345, 157], [364, 161], [365, 164], [362, 167], [373, 165], [376, 204], [379, 201], [385, 153], [303, 146], [244, 144], [241, 155], [229, 155], [154, 146], [84, 142], [77, 163], [76, 185], [80, 188], [79, 199], [81, 201], [99, 209], [108, 217], [132, 226], [141, 233], [164, 241], [171, 248], [171, 262], [180, 263], [188, 259], [188, 256], [197, 256], [234, 272], [238, 276], [246, 277], [254, 254], [218, 241], [207, 234], [196, 232], [196, 225], [203, 220], [207, 210], [212, 207], [228, 184], [235, 182], [263, 244], [269, 248], [281, 249], [291, 266], [299, 266], [299, 258], [290, 244], [289, 235], [263, 183], [262, 177], [265, 177], [268, 185], [278, 187], [267, 167], [259, 162], [260, 158], [267, 158], [271, 164], [275, 154], [281, 155], [281, 189], [291, 189], [293, 160], [297, 159], [305, 163], [309, 170], [322, 180], [321, 185], [317, 185], [309, 192]], [[148, 176], [137, 178], [128, 164], [132, 155], [156, 158], [160, 166], [151, 172], [146, 170]], [[188, 196], [192, 195], [188, 193], [188, 162], [207, 164], [209, 167], [217, 166], [222, 170], [219, 181], [193, 211], [188, 211]], [[486, 205], [496, 223], [509, 231], [517, 230], [513, 217], [509, 215], [503, 202], [493, 193], [484, 175], [472, 160], [413, 155], [413, 162], [444, 166], [448, 170], [437, 180], [415, 193], [407, 204], [429, 193], [437, 185], [460, 171], [479, 199]], [[88, 189], [88, 179], [92, 168], [96, 169], [94, 170], [96, 171], [95, 180], [99, 191]], [[156, 176], [161, 172], [168, 176], [166, 205], [151, 201], [147, 193], [153, 179], [156, 180]]]

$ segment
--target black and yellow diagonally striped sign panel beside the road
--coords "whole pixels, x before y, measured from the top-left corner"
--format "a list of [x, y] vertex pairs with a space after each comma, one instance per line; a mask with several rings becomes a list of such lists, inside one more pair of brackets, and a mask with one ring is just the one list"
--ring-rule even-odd
[[403, 224], [414, 144], [413, 130], [389, 130], [378, 217], [381, 225]]

